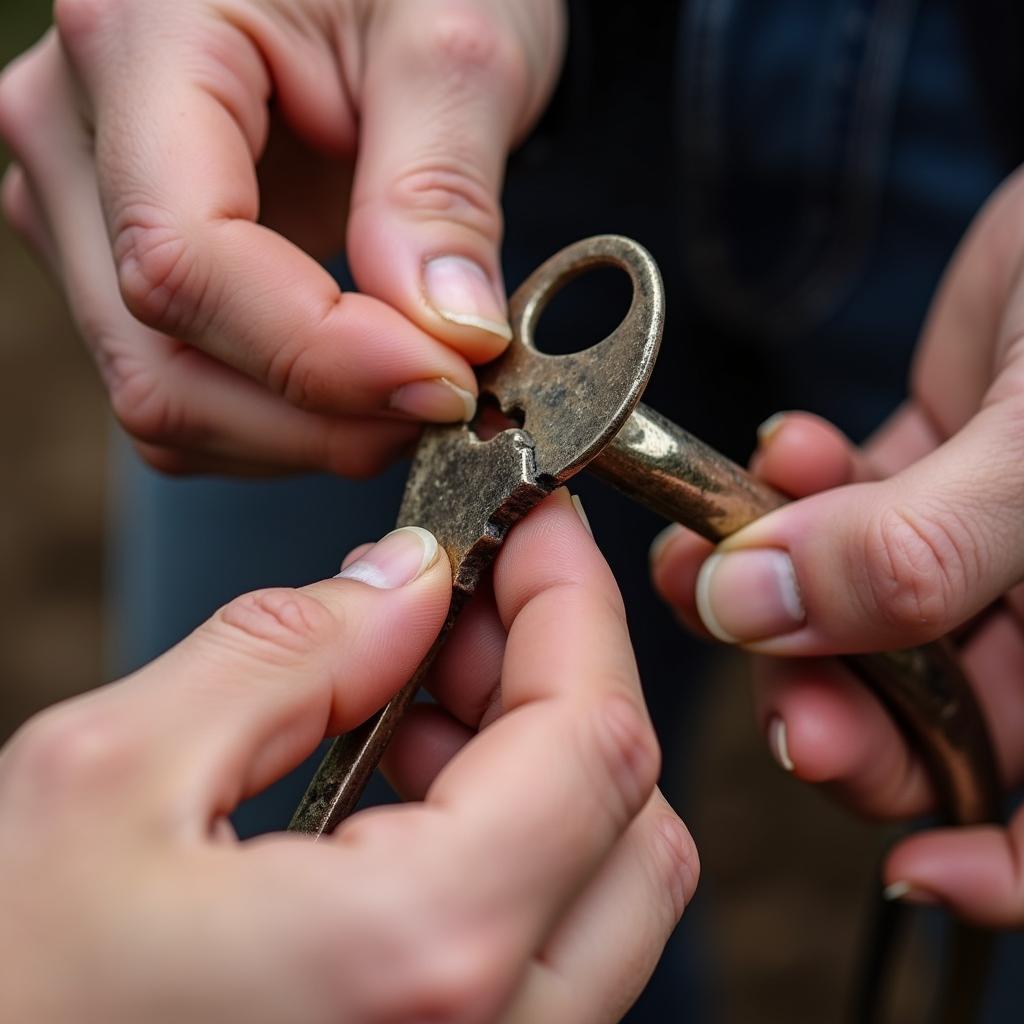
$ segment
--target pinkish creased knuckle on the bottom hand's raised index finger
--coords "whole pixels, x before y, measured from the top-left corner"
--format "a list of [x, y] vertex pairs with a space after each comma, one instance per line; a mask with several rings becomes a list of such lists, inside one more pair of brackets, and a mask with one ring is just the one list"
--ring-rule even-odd
[[606, 795], [609, 816], [625, 826], [657, 781], [662, 760], [657, 737], [647, 716], [623, 694], [598, 700], [587, 719], [590, 736], [585, 742], [593, 746], [591, 759], [598, 761], [595, 777], [608, 782], [595, 792]]

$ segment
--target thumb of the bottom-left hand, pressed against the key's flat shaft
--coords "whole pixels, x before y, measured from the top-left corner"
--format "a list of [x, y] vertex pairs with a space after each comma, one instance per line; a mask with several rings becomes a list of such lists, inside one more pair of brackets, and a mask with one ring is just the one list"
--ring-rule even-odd
[[230, 812], [407, 681], [450, 591], [443, 552], [425, 530], [407, 528], [342, 578], [232, 601], [106, 691], [137, 718], [142, 763], [132, 784], [152, 788], [155, 809], [189, 826]]

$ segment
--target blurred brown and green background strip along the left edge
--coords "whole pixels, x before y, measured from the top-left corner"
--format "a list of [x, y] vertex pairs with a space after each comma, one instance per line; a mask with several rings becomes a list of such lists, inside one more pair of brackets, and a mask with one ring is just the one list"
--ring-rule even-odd
[[[0, 65], [50, 6], [0, 0]], [[9, 159], [0, 147], [0, 170]], [[0, 736], [101, 678], [106, 429], [59, 293], [0, 220]]]

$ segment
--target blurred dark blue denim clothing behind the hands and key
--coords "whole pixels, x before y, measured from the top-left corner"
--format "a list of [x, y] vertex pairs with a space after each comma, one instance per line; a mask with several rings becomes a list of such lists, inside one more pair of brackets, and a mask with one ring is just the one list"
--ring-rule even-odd
[[[778, 409], [862, 437], [901, 400], [941, 269], [1009, 170], [985, 135], [951, 0], [693, 0], [678, 23], [669, 3], [574, 13], [560, 96], [510, 168], [510, 285], [580, 237], [632, 234], [669, 293], [651, 404], [736, 458]], [[552, 334], [599, 337], [609, 295], [570, 289]], [[128, 456], [119, 467], [118, 671], [233, 594], [332, 573], [386, 531], [401, 482], [400, 468], [353, 484], [169, 480]], [[587, 480], [579, 489], [630, 610], [685, 816], [677, 780], [702, 654], [650, 592], [654, 517]], [[243, 830], [287, 820], [302, 779], [283, 786], [244, 810]], [[713, 1019], [705, 912], [706, 897], [630, 1021]]]

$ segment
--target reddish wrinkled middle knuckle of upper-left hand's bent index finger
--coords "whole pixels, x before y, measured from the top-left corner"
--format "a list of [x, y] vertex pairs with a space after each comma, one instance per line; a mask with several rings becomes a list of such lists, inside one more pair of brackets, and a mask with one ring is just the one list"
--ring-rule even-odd
[[166, 215], [135, 212], [119, 226], [114, 258], [121, 297], [143, 324], [168, 334], [195, 326], [205, 286], [184, 234]]

